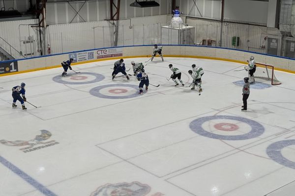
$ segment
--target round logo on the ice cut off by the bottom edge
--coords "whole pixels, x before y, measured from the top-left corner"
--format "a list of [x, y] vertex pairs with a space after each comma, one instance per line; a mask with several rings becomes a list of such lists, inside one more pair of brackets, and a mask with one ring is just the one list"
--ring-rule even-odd
[[147, 184], [122, 182], [101, 186], [90, 196], [146, 196], [149, 191], [150, 187]]

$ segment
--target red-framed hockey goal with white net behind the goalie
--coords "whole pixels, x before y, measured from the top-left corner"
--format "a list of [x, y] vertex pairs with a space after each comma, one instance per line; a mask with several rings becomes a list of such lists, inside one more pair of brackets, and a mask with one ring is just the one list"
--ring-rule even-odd
[[256, 63], [254, 77], [271, 81], [271, 85], [279, 85], [281, 82], [274, 75], [274, 67], [264, 63]]

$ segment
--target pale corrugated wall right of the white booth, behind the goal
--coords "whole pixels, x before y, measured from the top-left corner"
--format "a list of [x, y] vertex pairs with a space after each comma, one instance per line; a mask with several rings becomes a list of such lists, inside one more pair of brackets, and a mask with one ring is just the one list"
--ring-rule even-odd
[[[197, 44], [202, 44], [203, 40], [211, 40], [212, 46], [219, 46], [220, 21], [189, 17], [186, 21], [188, 25], [195, 26], [195, 42]], [[232, 45], [234, 36], [239, 37], [239, 46]], [[221, 47], [266, 53], [267, 37], [280, 38], [281, 34], [278, 29], [266, 26], [224, 22]]]

